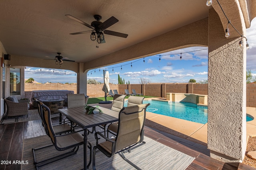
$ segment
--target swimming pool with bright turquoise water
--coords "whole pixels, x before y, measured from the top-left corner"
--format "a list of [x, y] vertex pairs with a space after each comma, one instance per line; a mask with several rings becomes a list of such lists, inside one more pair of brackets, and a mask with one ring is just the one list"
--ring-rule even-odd
[[[205, 124], [208, 122], [208, 107], [199, 106], [192, 103], [185, 102], [162, 102], [156, 100], [144, 100], [143, 103], [150, 103], [147, 111], [157, 113], [160, 115], [166, 115], [170, 117], [176, 117], [188, 121]], [[127, 106], [127, 101], [124, 103]], [[253, 117], [246, 116], [246, 121], [251, 121]]]

